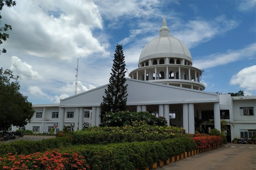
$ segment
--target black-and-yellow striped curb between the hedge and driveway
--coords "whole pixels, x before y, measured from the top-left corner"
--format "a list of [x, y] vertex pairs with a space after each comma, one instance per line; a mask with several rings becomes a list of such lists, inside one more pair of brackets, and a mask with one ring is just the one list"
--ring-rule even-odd
[[[207, 152], [207, 151], [211, 151], [213, 149], [217, 149], [219, 147], [221, 147], [221, 145], [218, 145], [218, 146], [215, 146], [215, 147], [210, 147], [210, 148], [205, 148], [205, 149], [196, 149], [196, 150], [181, 153], [177, 156], [170, 156], [169, 159], [159, 160], [158, 162], [155, 162], [153, 165], [146, 167], [145, 170], [151, 170], [151, 169], [154, 169], [154, 168], [157, 168], [157, 167], [160, 167], [160, 166], [178, 161], [180, 159], [184, 159], [186, 157], [190, 157], [190, 156], [202, 153], [202, 152]], [[139, 170], [139, 169], [135, 169], [135, 170]]]

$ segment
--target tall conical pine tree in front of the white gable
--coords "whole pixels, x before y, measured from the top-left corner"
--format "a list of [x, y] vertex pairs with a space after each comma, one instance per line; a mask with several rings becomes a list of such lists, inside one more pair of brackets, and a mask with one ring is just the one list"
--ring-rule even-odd
[[110, 84], [105, 89], [105, 96], [102, 96], [103, 102], [100, 104], [102, 114], [126, 109], [128, 84], [125, 85], [125, 56], [122, 45], [117, 44], [113, 62]]

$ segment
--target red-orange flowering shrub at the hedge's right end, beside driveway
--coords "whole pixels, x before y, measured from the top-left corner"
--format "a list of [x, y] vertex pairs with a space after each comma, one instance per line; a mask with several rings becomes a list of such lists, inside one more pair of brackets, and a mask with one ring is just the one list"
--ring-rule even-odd
[[210, 148], [215, 147], [217, 145], [221, 145], [223, 139], [220, 136], [197, 136], [197, 137], [192, 137], [192, 139], [195, 141], [197, 145], [197, 149], [205, 149], [205, 148]]

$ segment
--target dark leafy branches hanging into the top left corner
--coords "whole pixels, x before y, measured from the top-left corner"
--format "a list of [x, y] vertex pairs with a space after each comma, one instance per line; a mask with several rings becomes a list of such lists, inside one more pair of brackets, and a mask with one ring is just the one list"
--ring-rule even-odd
[[[0, 11], [3, 9], [3, 6], [6, 5], [9, 8], [16, 5], [16, 2], [13, 0], [0, 0]], [[0, 15], [0, 19], [2, 16]], [[1, 21], [0, 21], [1, 25]], [[5, 33], [8, 30], [12, 30], [12, 26], [9, 24], [4, 24], [4, 27], [0, 26], [0, 44], [3, 44], [3, 41], [6, 41], [9, 38], [9, 34]], [[3, 40], [3, 41], [2, 41]], [[6, 53], [6, 50], [3, 48], [1, 53]]]

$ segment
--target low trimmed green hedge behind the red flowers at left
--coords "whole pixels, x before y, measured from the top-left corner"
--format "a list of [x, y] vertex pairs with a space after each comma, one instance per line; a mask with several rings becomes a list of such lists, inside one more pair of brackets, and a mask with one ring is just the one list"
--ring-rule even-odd
[[51, 138], [40, 141], [20, 140], [10, 143], [0, 143], [0, 155], [7, 153], [30, 154], [44, 152], [47, 149], [67, 147], [72, 145], [72, 138]]

